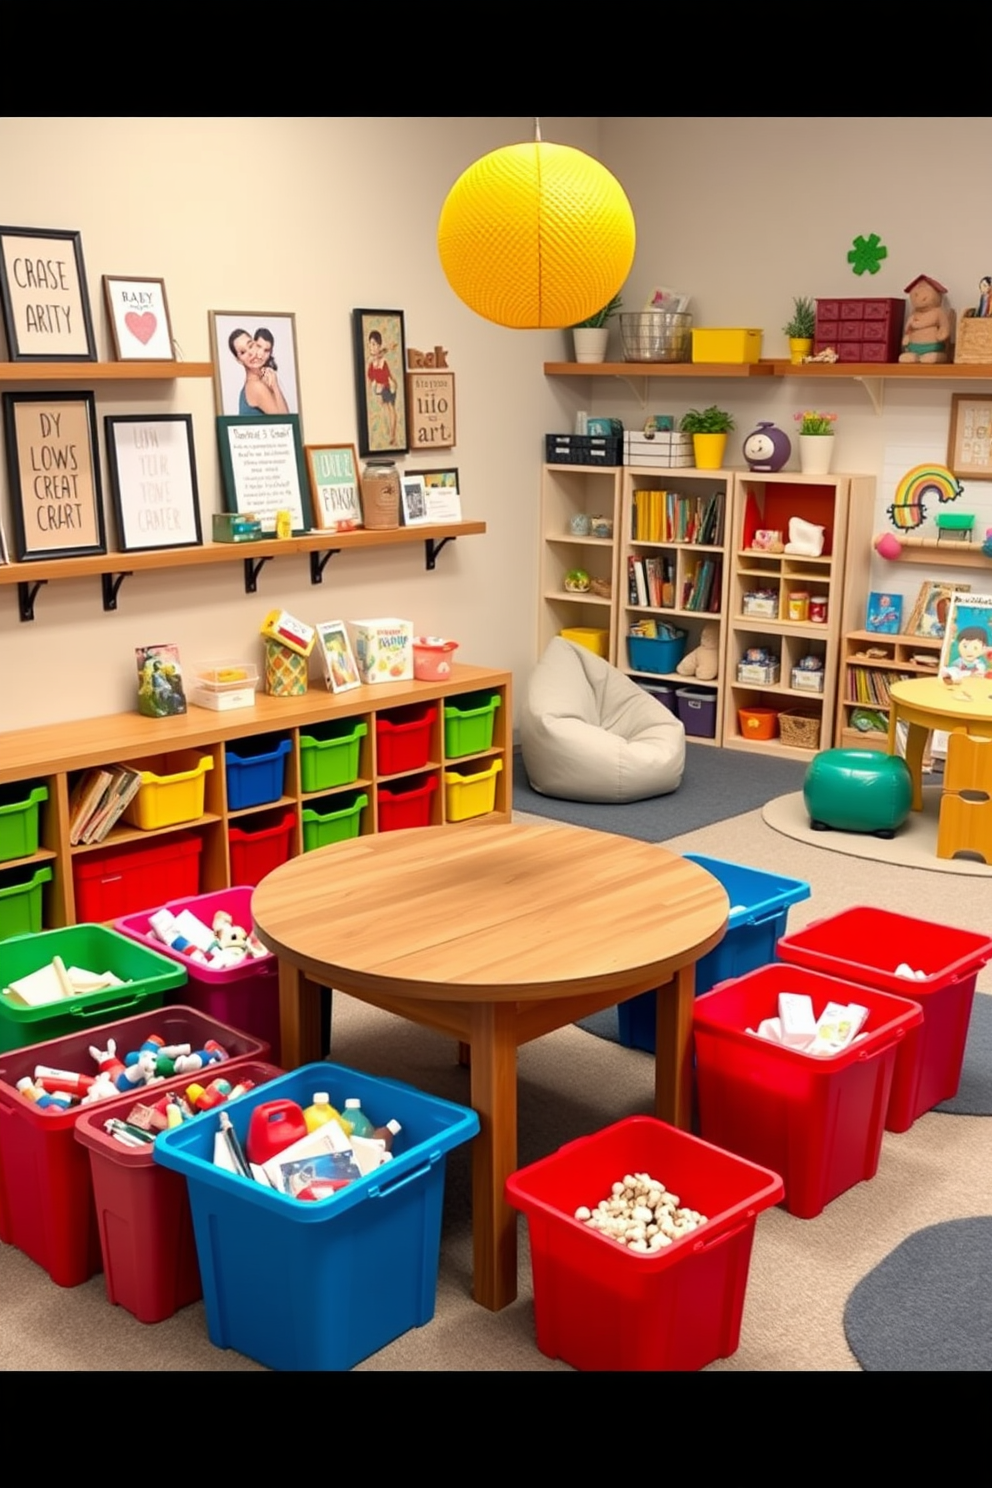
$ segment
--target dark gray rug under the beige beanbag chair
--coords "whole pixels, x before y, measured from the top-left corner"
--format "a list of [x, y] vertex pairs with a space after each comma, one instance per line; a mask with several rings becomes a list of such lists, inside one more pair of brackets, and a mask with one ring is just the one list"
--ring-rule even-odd
[[802, 790], [806, 768], [802, 760], [687, 744], [686, 772], [678, 790], [648, 801], [598, 804], [541, 796], [531, 789], [518, 753], [513, 760], [513, 809], [598, 832], [616, 832], [641, 842], [665, 842], [754, 811], [775, 796]]

